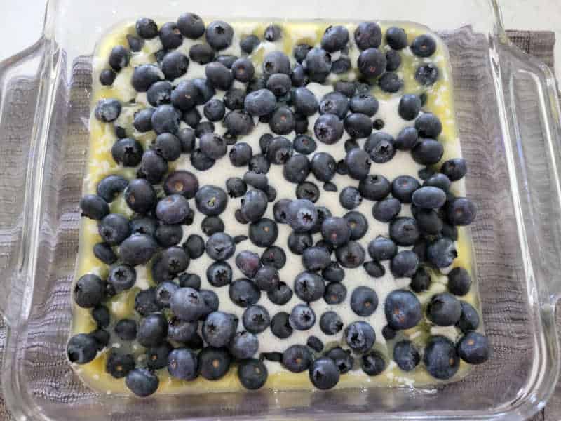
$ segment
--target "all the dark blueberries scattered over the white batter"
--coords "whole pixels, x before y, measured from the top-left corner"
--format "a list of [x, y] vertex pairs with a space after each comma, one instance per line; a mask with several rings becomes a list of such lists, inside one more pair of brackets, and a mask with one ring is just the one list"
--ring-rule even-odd
[[[421, 352], [426, 369], [438, 379], [452, 377], [459, 359], [468, 363], [487, 360], [487, 338], [475, 332], [478, 312], [457, 298], [466, 295], [471, 286], [465, 269], [456, 268], [448, 274], [449, 292], [434, 295], [425, 310], [415, 295], [430, 287], [432, 269], [452, 264], [457, 257], [457, 226], [468, 225], [475, 218], [473, 203], [450, 190], [451, 183], [466, 174], [465, 161], [451, 159], [436, 165], [443, 154], [442, 144], [436, 140], [442, 124], [437, 116], [420, 113], [426, 100], [422, 95], [405, 94], [399, 102], [398, 113], [414, 121], [413, 127], [403, 129], [395, 139], [381, 131], [372, 133], [384, 124], [372, 121], [378, 109], [376, 98], [369, 93], [372, 85], [399, 91], [403, 87], [395, 73], [400, 67], [399, 51], [410, 48], [415, 55], [429, 57], [436, 48], [431, 36], [418, 36], [407, 46], [405, 31], [391, 27], [385, 34], [391, 49], [384, 53], [379, 49], [383, 36], [380, 27], [374, 22], [361, 23], [354, 32], [361, 51], [356, 63], [360, 81], [337, 81], [333, 92], [318, 99], [306, 88], [307, 83], [324, 83], [330, 73], [342, 74], [352, 67], [345, 27], [328, 27], [320, 47], [297, 45], [294, 66], [282, 52], [268, 53], [259, 76], [248, 58], [261, 42], [257, 36], [241, 39], [243, 57], [219, 55], [234, 38], [227, 22], [215, 21], [205, 27], [198, 15], [185, 13], [177, 22], [165, 23], [159, 29], [154, 20], [141, 18], [136, 32], [137, 36], [128, 36], [128, 48], [113, 48], [111, 68], [101, 72], [100, 82], [111, 85], [144, 40], [158, 36], [163, 45], [163, 50], [156, 53], [158, 64], [135, 67], [130, 81], [136, 91], [147, 93], [151, 105], [135, 114], [133, 125], [139, 132], [154, 131], [156, 138], [144, 150], [132, 133], [116, 123], [121, 102], [104, 99], [97, 103], [95, 118], [112, 123], [119, 138], [111, 149], [114, 160], [137, 168], [137, 178], [108, 175], [97, 185], [97, 194], [81, 199], [83, 216], [98, 221], [102, 242], [95, 244], [93, 251], [109, 265], [109, 275], [102, 279], [86, 274], [76, 281], [76, 305], [91, 309], [97, 329], [69, 340], [70, 361], [83, 364], [95, 359], [97, 352], [109, 344], [109, 330], [113, 330], [114, 338], [136, 340], [145, 348], [142, 362], [133, 354], [119, 353], [119, 349], [111, 349], [107, 356], [107, 372], [116, 378], [125, 377], [128, 388], [138, 396], [156, 392], [155, 370], [167, 368], [171, 376], [182, 380], [194, 380], [199, 375], [217, 380], [232, 363], [236, 363], [243, 387], [259, 389], [267, 378], [264, 359], [278, 361], [295, 373], [308, 370], [318, 389], [334, 387], [339, 375], [353, 368], [356, 356], [365, 373], [377, 375], [386, 368], [386, 361], [372, 349], [376, 341], [372, 326], [360, 320], [344, 328], [337, 312], [332, 311], [320, 316], [320, 329], [334, 335], [344, 328], [348, 349], [325, 349], [319, 338], [309, 336], [306, 345], [293, 345], [283, 353], [260, 354], [258, 358], [255, 354], [259, 348], [257, 335], [267, 328], [278, 338], [288, 338], [293, 330], [309, 330], [316, 323], [310, 302], [344, 302], [343, 268], [363, 266], [367, 275], [377, 278], [384, 276], [380, 263], [384, 260], [389, 260], [393, 276], [411, 278], [409, 289], [394, 290], [384, 302], [386, 340], [396, 338], [398, 330], [417, 326], [424, 312], [435, 325], [457, 326], [464, 333], [457, 345], [433, 336], [424, 350], [409, 340], [399, 340], [393, 347], [393, 359], [402, 370], [414, 369], [421, 361]], [[206, 43], [194, 44], [189, 58], [176, 50], [184, 37], [202, 36]], [[263, 39], [276, 41], [282, 36], [280, 27], [270, 25]], [[330, 54], [338, 51], [340, 57], [332, 61]], [[173, 87], [170, 81], [187, 73], [189, 60], [205, 65], [206, 79], [185, 79]], [[419, 83], [431, 85], [438, 79], [438, 69], [421, 65], [415, 77]], [[234, 88], [234, 80], [245, 83], [246, 88]], [[226, 91], [223, 100], [215, 98], [217, 90]], [[205, 121], [201, 121], [198, 105], [204, 105]], [[308, 118], [316, 112], [320, 116], [309, 131]], [[256, 120], [268, 123], [272, 132], [260, 138], [259, 153], [254, 152], [257, 145], [238, 142], [238, 137], [252, 131]], [[180, 128], [181, 121], [187, 127]], [[225, 127], [224, 135], [215, 133], [215, 124]], [[292, 132], [295, 138], [291, 141], [285, 136]], [[331, 145], [341, 140], [344, 132], [349, 135], [344, 142], [344, 159], [337, 162], [325, 152], [309, 158], [316, 140]], [[367, 138], [363, 148], [356, 142], [358, 138]], [[372, 162], [390, 161], [398, 150], [410, 151], [414, 161], [426, 166], [419, 173], [422, 185], [407, 175], [390, 181], [370, 174]], [[189, 154], [191, 166], [197, 171], [208, 171], [227, 154], [233, 166], [247, 167], [248, 171], [243, 178], [225, 180], [226, 189], [199, 186], [190, 171], [168, 171], [168, 162], [181, 154]], [[282, 165], [285, 180], [297, 185], [296, 199], [277, 200], [266, 175], [271, 165]], [[356, 180], [358, 187], [344, 187], [339, 194], [349, 213], [339, 217], [328, 208], [316, 206], [320, 189], [306, 181], [310, 174], [327, 191], [337, 191], [337, 185], [331, 182], [336, 174]], [[133, 218], [110, 212], [109, 204], [121, 194]], [[235, 215], [239, 223], [248, 225], [247, 236], [232, 237], [224, 232], [219, 215], [227, 208], [229, 197], [242, 198]], [[196, 210], [190, 199], [194, 199]], [[367, 220], [353, 210], [363, 199], [374, 203], [372, 215], [389, 224], [390, 234], [390, 238], [372, 239], [367, 250], [358, 243], [367, 232]], [[402, 205], [409, 203], [413, 217], [399, 216]], [[274, 220], [264, 218], [268, 206], [273, 206]], [[208, 239], [191, 234], [180, 245], [182, 226], [193, 223], [195, 212], [205, 215], [201, 228]], [[285, 249], [275, 244], [278, 224], [290, 226], [288, 250], [302, 255], [305, 270], [293, 280], [292, 288], [278, 275], [286, 262]], [[314, 244], [312, 234], [321, 234], [322, 239]], [[249, 250], [236, 254], [236, 248], [248, 240], [264, 248], [262, 255]], [[232, 302], [245, 308], [243, 330], [238, 330], [236, 315], [219, 311], [216, 293], [201, 289], [200, 276], [186, 272], [191, 260], [204, 253], [214, 261], [206, 269], [210, 285], [228, 286]], [[367, 261], [367, 255], [371, 260]], [[234, 258], [246, 278], [232, 280], [229, 258]], [[107, 300], [135, 286], [137, 265], [149, 265], [156, 286], [137, 293], [134, 319], [111, 320]], [[296, 305], [290, 314], [278, 312], [271, 317], [257, 304], [262, 292], [277, 305], [287, 303], [293, 293], [306, 304]], [[365, 286], [353, 290], [350, 301], [358, 316], [370, 316], [378, 306], [377, 294]]]

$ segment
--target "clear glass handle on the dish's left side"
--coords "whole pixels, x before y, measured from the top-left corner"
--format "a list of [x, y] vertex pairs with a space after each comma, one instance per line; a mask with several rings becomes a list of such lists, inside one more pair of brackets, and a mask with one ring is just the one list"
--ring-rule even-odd
[[[25, 244], [34, 215], [35, 110], [46, 41], [0, 62], [0, 312], [8, 323], [21, 309]], [[38, 218], [39, 215], [34, 215]], [[18, 310], [19, 309], [19, 310]]]

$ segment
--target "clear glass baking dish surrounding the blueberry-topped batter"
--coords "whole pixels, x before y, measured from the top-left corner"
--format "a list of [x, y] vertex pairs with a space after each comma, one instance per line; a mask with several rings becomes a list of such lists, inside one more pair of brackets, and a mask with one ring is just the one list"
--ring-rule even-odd
[[[560, 108], [550, 70], [509, 44], [494, 0], [51, 0], [43, 36], [0, 63], [1, 381], [18, 420], [525, 419], [559, 371]], [[96, 394], [65, 356], [86, 168], [95, 43], [127, 18], [403, 20], [450, 49], [488, 363], [433, 388], [238, 392], [150, 399]]]

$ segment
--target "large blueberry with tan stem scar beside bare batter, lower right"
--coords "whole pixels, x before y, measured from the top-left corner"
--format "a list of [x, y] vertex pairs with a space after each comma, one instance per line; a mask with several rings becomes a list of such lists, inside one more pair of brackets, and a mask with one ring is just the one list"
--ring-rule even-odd
[[421, 303], [414, 293], [393, 290], [386, 297], [384, 312], [388, 325], [393, 330], [404, 330], [417, 326], [421, 321]]

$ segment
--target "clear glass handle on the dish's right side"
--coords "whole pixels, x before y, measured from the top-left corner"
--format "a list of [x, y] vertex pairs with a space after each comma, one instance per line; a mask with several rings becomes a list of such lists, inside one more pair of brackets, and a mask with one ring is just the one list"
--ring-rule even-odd
[[[527, 279], [544, 308], [561, 298], [561, 112], [550, 68], [512, 44], [499, 46], [505, 142]], [[551, 307], [550, 307], [551, 306]]]

